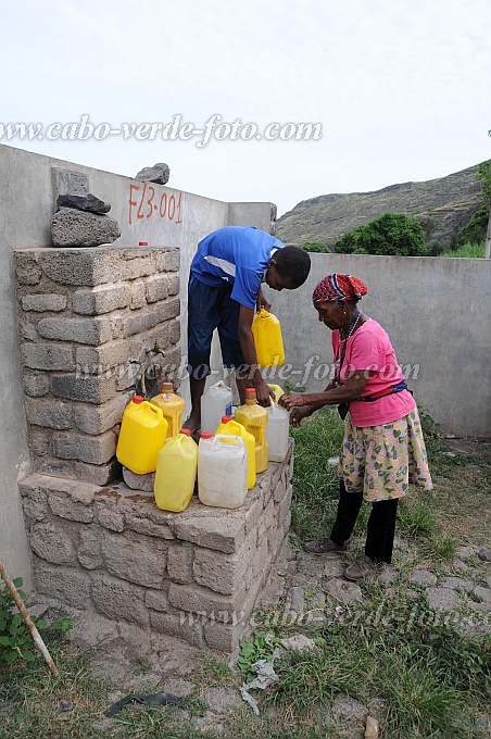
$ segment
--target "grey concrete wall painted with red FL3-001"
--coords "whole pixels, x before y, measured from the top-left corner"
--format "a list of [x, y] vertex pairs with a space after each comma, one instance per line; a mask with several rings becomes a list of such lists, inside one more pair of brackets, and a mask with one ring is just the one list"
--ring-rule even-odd
[[[144, 165], [146, 162], [142, 162]], [[148, 164], [148, 162], [147, 162]], [[51, 246], [50, 220], [55, 210], [52, 167], [83, 172], [90, 192], [112, 204], [122, 236], [118, 247], [180, 249], [181, 279], [187, 284], [197, 242], [226, 225], [254, 225], [269, 230], [269, 203], [226, 203], [161, 185], [85, 167], [49, 156], [0, 146], [0, 398], [3, 433], [0, 435], [0, 558], [13, 577], [24, 577], [29, 588], [29, 560], [17, 480], [29, 471], [24, 397], [21, 384], [14, 249]], [[172, 176], [172, 175], [171, 175]], [[236, 220], [237, 218], [237, 220]], [[181, 290], [182, 292], [182, 290]], [[186, 316], [182, 296], [181, 316]], [[185, 341], [186, 326], [181, 330]]]

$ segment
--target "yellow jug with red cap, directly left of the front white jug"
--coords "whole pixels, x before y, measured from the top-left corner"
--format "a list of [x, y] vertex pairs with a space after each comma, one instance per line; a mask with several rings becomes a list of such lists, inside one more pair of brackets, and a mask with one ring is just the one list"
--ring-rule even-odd
[[182, 428], [167, 439], [159, 452], [153, 494], [156, 506], [180, 513], [189, 505], [194, 492], [198, 469], [198, 444], [190, 431]]

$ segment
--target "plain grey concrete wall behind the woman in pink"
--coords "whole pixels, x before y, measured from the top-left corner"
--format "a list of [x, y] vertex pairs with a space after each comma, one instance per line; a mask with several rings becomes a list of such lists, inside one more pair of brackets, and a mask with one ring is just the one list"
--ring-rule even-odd
[[[388, 331], [415, 397], [445, 433], [491, 436], [491, 261], [471, 259], [311, 254], [307, 283], [270, 291], [281, 322], [282, 378], [323, 390], [331, 333], [312, 305], [316, 284], [332, 272], [368, 286], [361, 306]], [[311, 356], [318, 355], [306, 372]], [[278, 384], [281, 385], [281, 378]]]

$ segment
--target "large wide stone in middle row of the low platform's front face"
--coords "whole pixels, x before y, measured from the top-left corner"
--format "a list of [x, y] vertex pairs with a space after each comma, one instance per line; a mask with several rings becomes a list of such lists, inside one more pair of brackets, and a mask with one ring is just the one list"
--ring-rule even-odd
[[124, 580], [161, 588], [166, 567], [167, 546], [155, 538], [105, 534], [102, 541], [102, 555], [111, 575]]

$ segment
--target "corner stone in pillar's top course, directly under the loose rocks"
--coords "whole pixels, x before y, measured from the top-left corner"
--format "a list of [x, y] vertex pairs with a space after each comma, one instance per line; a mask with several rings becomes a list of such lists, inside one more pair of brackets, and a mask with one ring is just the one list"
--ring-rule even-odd
[[96, 287], [117, 281], [121, 275], [119, 249], [53, 249], [43, 252], [45, 274], [54, 283]]

